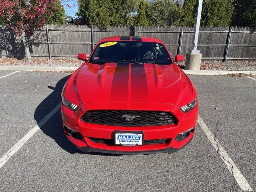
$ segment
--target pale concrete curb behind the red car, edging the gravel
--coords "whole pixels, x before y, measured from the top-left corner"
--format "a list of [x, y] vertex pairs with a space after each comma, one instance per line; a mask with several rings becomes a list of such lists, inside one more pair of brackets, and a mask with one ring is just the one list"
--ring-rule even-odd
[[[8, 66], [0, 65], [0, 70], [19, 71], [75, 71], [78, 67], [47, 67], [47, 66]], [[188, 75], [226, 75], [226, 74], [251, 74], [256, 75], [256, 71], [213, 71], [213, 70], [183, 70]]]

